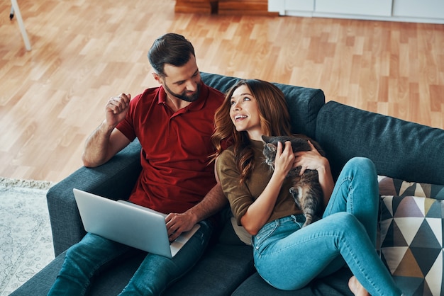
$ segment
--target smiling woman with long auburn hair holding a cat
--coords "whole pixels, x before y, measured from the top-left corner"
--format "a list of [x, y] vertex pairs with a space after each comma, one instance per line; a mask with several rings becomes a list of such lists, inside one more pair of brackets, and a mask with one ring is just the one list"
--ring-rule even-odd
[[[291, 132], [284, 94], [266, 81], [235, 84], [215, 123], [217, 176], [235, 219], [252, 235], [255, 266], [267, 283], [296, 290], [347, 263], [355, 295], [401, 295], [375, 251], [378, 187], [369, 159], [348, 161], [335, 185], [328, 160], [313, 144], [309, 152], [293, 153], [286, 142], [279, 143], [270, 170], [262, 156], [262, 135]], [[226, 141], [232, 145], [223, 150]], [[326, 207], [323, 219], [304, 228], [305, 217], [285, 178], [294, 166], [302, 166], [301, 173], [318, 171]]]

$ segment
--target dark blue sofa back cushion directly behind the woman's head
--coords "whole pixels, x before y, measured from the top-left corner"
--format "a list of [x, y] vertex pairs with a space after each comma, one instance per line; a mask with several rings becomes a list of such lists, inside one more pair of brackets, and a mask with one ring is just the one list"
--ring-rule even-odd
[[[202, 80], [208, 86], [226, 93], [239, 79], [218, 74], [201, 72]], [[285, 95], [292, 120], [292, 132], [314, 138], [316, 117], [325, 104], [321, 89], [309, 89], [300, 86], [274, 83]]]

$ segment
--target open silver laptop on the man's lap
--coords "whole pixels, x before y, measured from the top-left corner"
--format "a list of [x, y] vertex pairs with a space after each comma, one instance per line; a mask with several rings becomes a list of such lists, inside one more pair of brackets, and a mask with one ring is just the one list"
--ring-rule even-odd
[[200, 227], [199, 224], [194, 225], [192, 230], [183, 232], [170, 243], [166, 214], [76, 188], [73, 192], [87, 232], [152, 254], [173, 258]]

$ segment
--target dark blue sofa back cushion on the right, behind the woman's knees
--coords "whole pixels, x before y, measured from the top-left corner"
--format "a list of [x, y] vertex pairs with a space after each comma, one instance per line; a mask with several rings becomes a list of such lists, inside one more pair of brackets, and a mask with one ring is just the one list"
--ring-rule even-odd
[[365, 156], [379, 175], [444, 184], [444, 130], [329, 101], [318, 113], [315, 138], [335, 177], [348, 159]]

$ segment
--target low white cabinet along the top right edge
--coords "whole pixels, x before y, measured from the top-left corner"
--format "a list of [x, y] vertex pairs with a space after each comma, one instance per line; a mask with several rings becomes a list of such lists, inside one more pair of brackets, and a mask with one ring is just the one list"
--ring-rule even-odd
[[268, 0], [282, 16], [443, 23], [444, 0]]

